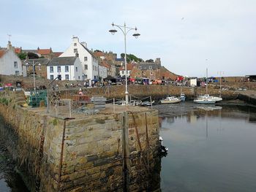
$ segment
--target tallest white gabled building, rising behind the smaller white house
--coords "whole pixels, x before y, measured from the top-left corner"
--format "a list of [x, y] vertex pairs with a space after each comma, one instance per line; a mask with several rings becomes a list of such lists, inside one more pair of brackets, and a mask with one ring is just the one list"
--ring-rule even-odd
[[59, 57], [71, 57], [75, 55], [77, 55], [81, 61], [83, 80], [98, 80], [98, 59], [87, 48], [86, 42], [79, 42], [78, 37], [72, 38], [72, 44]]

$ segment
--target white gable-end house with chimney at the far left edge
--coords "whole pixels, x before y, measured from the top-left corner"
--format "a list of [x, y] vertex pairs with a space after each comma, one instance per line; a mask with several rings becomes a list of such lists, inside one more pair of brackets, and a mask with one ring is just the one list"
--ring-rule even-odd
[[23, 74], [22, 63], [10, 41], [7, 48], [0, 49], [0, 74], [17, 76]]

